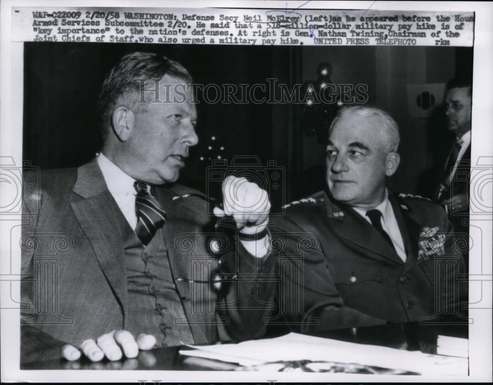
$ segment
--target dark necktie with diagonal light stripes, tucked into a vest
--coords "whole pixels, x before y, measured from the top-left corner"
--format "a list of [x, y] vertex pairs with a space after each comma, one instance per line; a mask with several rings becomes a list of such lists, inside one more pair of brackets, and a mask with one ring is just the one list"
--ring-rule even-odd
[[137, 227], [135, 233], [142, 244], [147, 245], [156, 231], [166, 222], [166, 211], [158, 201], [147, 192], [147, 184], [136, 181], [134, 187], [137, 191], [135, 198], [135, 210], [137, 214]]

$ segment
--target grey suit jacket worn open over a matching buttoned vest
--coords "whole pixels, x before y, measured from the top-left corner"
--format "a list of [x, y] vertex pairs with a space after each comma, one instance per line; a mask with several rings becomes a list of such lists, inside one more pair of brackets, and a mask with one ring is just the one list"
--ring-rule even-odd
[[[39, 189], [33, 191], [25, 197], [23, 207], [21, 324], [29, 325], [29, 333], [35, 327], [39, 336], [75, 346], [126, 329], [127, 276], [119, 230], [126, 219], [108, 191], [97, 161], [78, 169], [43, 172]], [[222, 326], [225, 318], [215, 314], [217, 293], [212, 282], [191, 289], [190, 279], [192, 256], [213, 258], [208, 242], [216, 218], [208, 214], [205, 200], [186, 198], [200, 194], [198, 191], [175, 184], [156, 188], [155, 194], [167, 212], [163, 232], [171, 273], [184, 313], [193, 315], [188, 320], [194, 341], [204, 344], [227, 339]], [[52, 270], [43, 270], [48, 266]], [[198, 292], [213, 305], [202, 304], [204, 309], [194, 312], [192, 300]], [[36, 341], [30, 338], [23, 343], [29, 346]], [[60, 344], [55, 343], [57, 349]]]

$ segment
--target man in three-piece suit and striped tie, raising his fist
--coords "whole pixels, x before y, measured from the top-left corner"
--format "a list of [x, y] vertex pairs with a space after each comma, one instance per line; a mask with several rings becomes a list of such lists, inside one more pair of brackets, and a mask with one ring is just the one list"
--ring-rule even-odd
[[[117, 360], [156, 344], [229, 338], [216, 303], [234, 302], [236, 293], [217, 292], [211, 278], [217, 218], [207, 214], [207, 197], [175, 183], [198, 142], [190, 84], [187, 70], [163, 56], [123, 57], [99, 98], [101, 153], [78, 169], [43, 172], [39, 193], [26, 197], [22, 360], [60, 351], [69, 360], [81, 352]], [[239, 271], [254, 274], [255, 257], [267, 253], [267, 194], [236, 177], [223, 192], [235, 196], [224, 195], [214, 212], [233, 216]], [[242, 285], [251, 295], [252, 283]]]

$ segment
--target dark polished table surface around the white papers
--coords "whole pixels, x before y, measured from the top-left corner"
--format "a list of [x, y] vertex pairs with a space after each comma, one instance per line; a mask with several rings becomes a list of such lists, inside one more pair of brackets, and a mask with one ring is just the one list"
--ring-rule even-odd
[[[406, 350], [421, 350], [426, 353], [436, 354], [436, 341], [438, 335], [467, 338], [468, 325], [418, 325], [417, 323], [387, 324], [361, 327], [358, 329], [330, 330], [311, 335], [359, 344]], [[90, 362], [87, 359], [69, 362], [63, 359], [56, 359], [23, 364], [21, 365], [21, 369], [232, 371], [240, 368], [237, 364], [179, 354], [178, 351], [183, 349], [188, 348], [171, 347], [141, 351], [136, 358], [122, 359], [113, 362], [107, 360]]]

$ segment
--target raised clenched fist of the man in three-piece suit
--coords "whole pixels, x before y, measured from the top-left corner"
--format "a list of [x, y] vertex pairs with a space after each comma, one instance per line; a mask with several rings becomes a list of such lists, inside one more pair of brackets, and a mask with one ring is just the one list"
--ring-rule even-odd
[[256, 234], [267, 226], [271, 203], [267, 191], [246, 178], [228, 176], [222, 182], [223, 207], [214, 208], [218, 217], [232, 215], [236, 226], [246, 234]]

